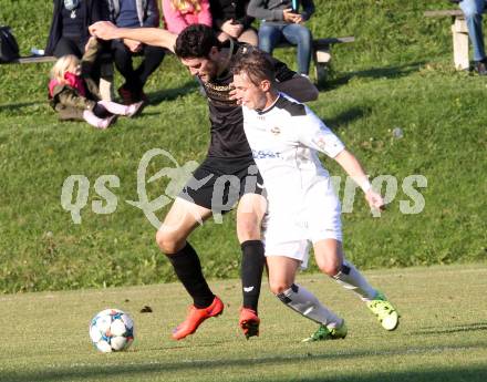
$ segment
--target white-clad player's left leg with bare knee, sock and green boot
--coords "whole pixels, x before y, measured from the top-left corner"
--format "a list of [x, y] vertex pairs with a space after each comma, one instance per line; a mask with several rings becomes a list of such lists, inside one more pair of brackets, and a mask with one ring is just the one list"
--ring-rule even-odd
[[313, 335], [305, 341], [345, 338], [346, 327], [343, 319], [324, 307], [318, 298], [304, 287], [294, 283], [300, 261], [284, 256], [268, 256], [269, 286], [282, 303], [303, 317], [320, 323]]

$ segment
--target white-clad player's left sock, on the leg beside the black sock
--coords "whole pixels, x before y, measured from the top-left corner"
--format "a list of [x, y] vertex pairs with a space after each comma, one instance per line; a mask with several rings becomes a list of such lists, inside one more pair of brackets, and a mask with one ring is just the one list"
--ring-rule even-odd
[[329, 329], [339, 328], [343, 323], [343, 320], [324, 307], [313, 293], [296, 283], [276, 297], [292, 310]]

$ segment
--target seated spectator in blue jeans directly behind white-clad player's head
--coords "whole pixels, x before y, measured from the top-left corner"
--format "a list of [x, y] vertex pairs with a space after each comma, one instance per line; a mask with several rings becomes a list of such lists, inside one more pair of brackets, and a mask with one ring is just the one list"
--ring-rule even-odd
[[304, 27], [314, 12], [312, 0], [301, 0], [303, 10], [299, 13], [297, 0], [250, 0], [247, 12], [261, 20], [259, 28], [259, 48], [272, 54], [280, 41], [298, 45], [298, 72], [309, 75], [312, 37]]

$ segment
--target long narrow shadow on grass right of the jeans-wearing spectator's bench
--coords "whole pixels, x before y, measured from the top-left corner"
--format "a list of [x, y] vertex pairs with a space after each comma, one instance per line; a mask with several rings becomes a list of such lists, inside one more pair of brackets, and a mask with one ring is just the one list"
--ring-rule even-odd
[[418, 72], [419, 68], [426, 62], [413, 62], [404, 65], [384, 66], [384, 68], [373, 68], [362, 71], [348, 72], [343, 75], [338, 75], [335, 79], [327, 81], [320, 86], [323, 90], [331, 90], [345, 85], [353, 78], [359, 79], [397, 79], [402, 76], [410, 75], [413, 72]]

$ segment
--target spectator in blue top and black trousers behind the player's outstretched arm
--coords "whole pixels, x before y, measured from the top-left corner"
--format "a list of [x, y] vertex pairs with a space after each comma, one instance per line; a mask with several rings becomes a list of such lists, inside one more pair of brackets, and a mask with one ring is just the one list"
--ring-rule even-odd
[[[107, 0], [112, 21], [122, 28], [153, 28], [159, 25], [157, 0]], [[144, 85], [149, 75], [163, 62], [165, 51], [139, 41], [121, 39], [112, 42], [113, 60], [125, 83], [118, 87], [122, 102], [126, 105], [145, 101]], [[144, 60], [134, 69], [133, 56]]]

